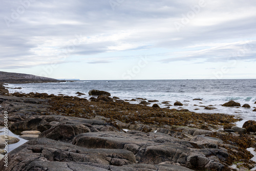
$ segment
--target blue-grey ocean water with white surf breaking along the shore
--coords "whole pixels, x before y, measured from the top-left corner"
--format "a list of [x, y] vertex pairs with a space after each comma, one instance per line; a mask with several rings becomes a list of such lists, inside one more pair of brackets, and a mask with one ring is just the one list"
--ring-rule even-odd
[[[6, 87], [22, 89], [9, 89], [10, 92], [38, 92], [48, 94], [64, 94], [76, 96], [76, 92], [86, 95], [80, 96], [90, 98], [88, 92], [92, 89], [103, 90], [121, 99], [131, 100], [133, 98], [146, 98], [147, 100], [159, 100], [161, 108], [166, 108], [163, 101], [174, 104], [180, 101], [183, 109], [197, 113], [224, 113], [238, 115], [245, 120], [256, 120], [256, 79], [226, 79], [226, 80], [91, 80], [61, 83], [28, 83], [9, 84]], [[193, 100], [200, 98], [202, 101]], [[251, 106], [245, 108], [227, 108], [221, 104], [234, 100], [247, 103]], [[139, 103], [132, 102], [131, 103]], [[153, 103], [152, 103], [153, 104]], [[152, 105], [151, 104], [151, 105]], [[205, 110], [203, 106], [212, 105], [214, 110]], [[170, 109], [178, 109], [180, 106], [170, 106]], [[199, 110], [196, 110], [199, 109]], [[242, 126], [244, 121], [238, 123]]]

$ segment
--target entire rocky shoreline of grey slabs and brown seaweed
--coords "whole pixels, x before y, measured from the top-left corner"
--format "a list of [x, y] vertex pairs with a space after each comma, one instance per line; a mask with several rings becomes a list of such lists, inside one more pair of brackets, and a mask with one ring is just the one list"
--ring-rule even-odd
[[40, 132], [8, 153], [8, 167], [2, 159], [0, 170], [248, 170], [255, 164], [246, 148], [255, 146], [256, 124], [237, 127], [239, 119], [230, 115], [131, 104], [104, 94], [10, 94], [2, 85], [0, 105], [12, 132]]

